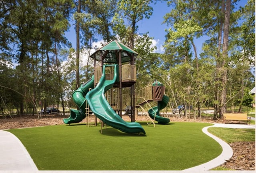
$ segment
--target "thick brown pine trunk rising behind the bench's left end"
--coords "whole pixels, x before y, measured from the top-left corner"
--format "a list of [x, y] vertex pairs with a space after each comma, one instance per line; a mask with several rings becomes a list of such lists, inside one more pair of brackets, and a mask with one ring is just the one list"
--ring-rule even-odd
[[227, 68], [225, 67], [226, 59], [228, 58], [228, 36], [229, 36], [229, 24], [230, 24], [230, 10], [231, 0], [226, 1], [225, 20], [223, 28], [223, 61], [222, 61], [222, 93], [220, 102], [220, 118], [223, 117], [223, 113], [226, 113], [226, 95], [227, 95]]

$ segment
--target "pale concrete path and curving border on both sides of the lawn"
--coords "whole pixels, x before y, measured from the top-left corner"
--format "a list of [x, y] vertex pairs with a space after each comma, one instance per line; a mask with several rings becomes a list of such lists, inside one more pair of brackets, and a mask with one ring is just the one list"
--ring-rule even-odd
[[[206, 135], [215, 139], [222, 146], [222, 153], [215, 159], [208, 161], [202, 165], [185, 169], [187, 172], [200, 172], [218, 167], [230, 159], [233, 155], [232, 148], [222, 141], [220, 138], [210, 134], [207, 129], [209, 127], [225, 127], [225, 128], [251, 128], [255, 129], [255, 125], [244, 124], [214, 124], [202, 129]], [[33, 159], [20, 140], [12, 133], [0, 130], [0, 172], [2, 171], [38, 171]]]

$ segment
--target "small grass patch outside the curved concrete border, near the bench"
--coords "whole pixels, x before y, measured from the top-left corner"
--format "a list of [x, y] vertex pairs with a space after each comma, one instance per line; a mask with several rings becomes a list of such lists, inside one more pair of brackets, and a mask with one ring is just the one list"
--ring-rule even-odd
[[255, 141], [255, 129], [210, 127], [208, 128], [208, 131], [226, 141], [226, 143], [233, 143], [238, 141]]

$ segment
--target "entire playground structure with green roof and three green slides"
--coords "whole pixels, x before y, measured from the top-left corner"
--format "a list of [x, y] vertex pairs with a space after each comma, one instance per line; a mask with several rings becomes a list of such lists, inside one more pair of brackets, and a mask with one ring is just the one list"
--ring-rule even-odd
[[[71, 109], [70, 117], [63, 119], [64, 123], [78, 123], [90, 117], [93, 112], [103, 123], [116, 129], [126, 133], [145, 134], [141, 125], [135, 122], [135, 107], [143, 109], [142, 105], [150, 101], [158, 102], [156, 107], [151, 107], [148, 111], [151, 122], [169, 123], [170, 119], [161, 117], [159, 113], [169, 101], [169, 98], [164, 95], [162, 84], [154, 82], [152, 86], [135, 93], [136, 55], [138, 54], [135, 51], [118, 41], [108, 42], [96, 50], [90, 56], [94, 59], [94, 76], [74, 91], [72, 98], [79, 110]], [[124, 88], [126, 88], [125, 91]], [[127, 88], [130, 89], [130, 94], [127, 94]], [[122, 119], [122, 111], [128, 112], [131, 123]]]

